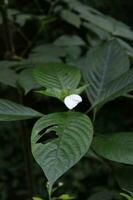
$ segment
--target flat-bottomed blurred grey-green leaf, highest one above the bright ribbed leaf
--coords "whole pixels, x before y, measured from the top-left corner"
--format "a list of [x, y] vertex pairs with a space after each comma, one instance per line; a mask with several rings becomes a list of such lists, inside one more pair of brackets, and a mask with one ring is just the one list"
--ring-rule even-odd
[[77, 35], [62, 35], [54, 42], [59, 46], [80, 46], [85, 45], [85, 42]]

